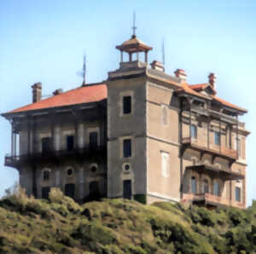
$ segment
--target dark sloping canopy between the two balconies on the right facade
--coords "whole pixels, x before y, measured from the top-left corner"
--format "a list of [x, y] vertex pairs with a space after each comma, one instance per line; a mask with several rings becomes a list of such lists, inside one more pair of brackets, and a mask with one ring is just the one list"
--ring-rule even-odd
[[218, 168], [214, 165], [192, 165], [186, 167], [187, 170], [195, 170], [197, 173], [207, 174], [212, 177], [220, 177], [224, 181], [242, 180], [244, 175], [234, 170], [226, 170], [224, 168]]

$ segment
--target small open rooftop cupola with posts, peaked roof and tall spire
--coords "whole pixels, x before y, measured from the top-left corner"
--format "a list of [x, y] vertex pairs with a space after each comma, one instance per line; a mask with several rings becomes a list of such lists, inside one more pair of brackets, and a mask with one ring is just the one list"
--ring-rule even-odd
[[139, 60], [139, 53], [144, 52], [144, 61], [147, 63], [148, 62], [148, 51], [153, 49], [152, 47], [146, 45], [143, 43], [141, 40], [139, 40], [136, 36], [136, 31], [137, 27], [135, 26], [135, 15], [133, 17], [133, 34], [131, 36], [131, 39], [125, 41], [119, 46], [116, 46], [116, 49], [120, 50], [120, 55], [121, 55], [121, 62], [123, 62], [123, 53], [126, 52], [129, 55], [129, 61], [132, 61], [132, 54], [136, 53], [137, 55], [137, 61]]

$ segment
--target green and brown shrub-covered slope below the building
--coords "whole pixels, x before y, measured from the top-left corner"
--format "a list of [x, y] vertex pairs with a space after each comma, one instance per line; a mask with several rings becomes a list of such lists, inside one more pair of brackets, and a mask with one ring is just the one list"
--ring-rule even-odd
[[[76, 204], [19, 193], [0, 200], [0, 253], [253, 253], [256, 203], [247, 211], [123, 199]], [[255, 252], [256, 253], [256, 252]]]

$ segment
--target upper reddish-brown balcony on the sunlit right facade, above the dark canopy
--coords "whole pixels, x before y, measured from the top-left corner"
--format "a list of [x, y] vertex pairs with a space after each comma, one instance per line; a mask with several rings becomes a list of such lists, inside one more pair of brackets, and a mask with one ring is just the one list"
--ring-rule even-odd
[[201, 153], [208, 153], [212, 155], [212, 161], [215, 157], [221, 157], [223, 159], [229, 159], [231, 163], [235, 162], [237, 158], [236, 150], [227, 148], [227, 147], [219, 147], [218, 149], [213, 149], [212, 147], [205, 147], [201, 144], [198, 144], [194, 139], [191, 137], [184, 137], [182, 139], [183, 148], [193, 148]]

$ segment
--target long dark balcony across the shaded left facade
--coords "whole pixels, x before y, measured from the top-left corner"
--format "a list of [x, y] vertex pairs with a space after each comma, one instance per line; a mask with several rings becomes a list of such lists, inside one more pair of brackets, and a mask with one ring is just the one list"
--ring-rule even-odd
[[47, 153], [30, 153], [24, 155], [12, 156], [7, 154], [5, 156], [4, 165], [14, 168], [19, 168], [26, 163], [38, 162], [59, 162], [62, 159], [107, 159], [107, 147], [84, 147], [72, 150], [48, 151]]

